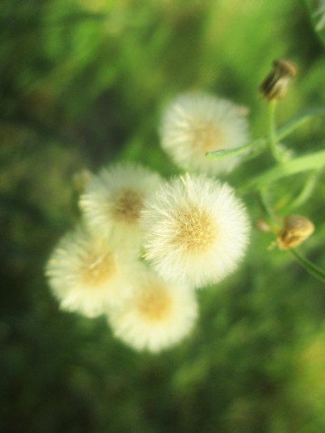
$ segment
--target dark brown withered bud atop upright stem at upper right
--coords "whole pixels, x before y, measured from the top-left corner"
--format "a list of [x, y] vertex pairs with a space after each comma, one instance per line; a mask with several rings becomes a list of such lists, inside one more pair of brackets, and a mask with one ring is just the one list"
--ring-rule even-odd
[[288, 60], [278, 59], [273, 62], [273, 70], [259, 87], [260, 93], [268, 100], [280, 100], [286, 95], [290, 78], [297, 75], [296, 67]]

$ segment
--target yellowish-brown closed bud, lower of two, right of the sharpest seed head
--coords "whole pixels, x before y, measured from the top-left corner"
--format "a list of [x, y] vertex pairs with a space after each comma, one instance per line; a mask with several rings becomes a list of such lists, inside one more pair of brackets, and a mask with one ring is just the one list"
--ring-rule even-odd
[[280, 250], [296, 248], [314, 231], [314, 225], [301, 215], [289, 215], [284, 219], [284, 227], [277, 235]]

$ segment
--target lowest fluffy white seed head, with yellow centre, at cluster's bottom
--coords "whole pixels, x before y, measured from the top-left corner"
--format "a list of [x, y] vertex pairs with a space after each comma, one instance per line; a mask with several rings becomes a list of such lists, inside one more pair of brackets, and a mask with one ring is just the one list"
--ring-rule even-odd
[[109, 323], [115, 336], [134, 349], [158, 352], [185, 338], [197, 315], [193, 290], [147, 270], [134, 279], [133, 295], [110, 308]]

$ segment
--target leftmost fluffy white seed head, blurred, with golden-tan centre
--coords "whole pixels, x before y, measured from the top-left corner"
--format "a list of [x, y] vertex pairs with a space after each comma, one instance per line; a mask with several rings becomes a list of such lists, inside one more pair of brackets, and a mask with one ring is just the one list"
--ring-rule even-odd
[[82, 228], [66, 234], [46, 264], [48, 283], [64, 310], [95, 317], [129, 295], [137, 265]]

